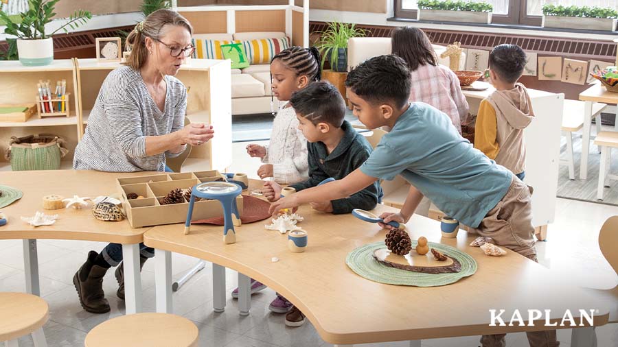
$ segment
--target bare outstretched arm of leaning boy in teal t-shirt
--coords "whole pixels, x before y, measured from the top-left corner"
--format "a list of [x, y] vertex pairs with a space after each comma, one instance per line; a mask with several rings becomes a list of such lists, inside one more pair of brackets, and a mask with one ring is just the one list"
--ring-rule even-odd
[[[348, 196], [365, 189], [378, 178], [365, 175], [361, 169], [352, 171], [341, 180], [336, 180], [319, 187], [304, 189], [271, 204], [270, 213], [274, 214], [282, 208], [292, 208], [309, 202], [321, 202], [347, 198]], [[418, 203], [417, 203], [418, 204]]]

